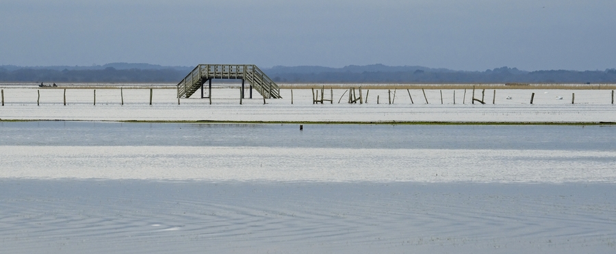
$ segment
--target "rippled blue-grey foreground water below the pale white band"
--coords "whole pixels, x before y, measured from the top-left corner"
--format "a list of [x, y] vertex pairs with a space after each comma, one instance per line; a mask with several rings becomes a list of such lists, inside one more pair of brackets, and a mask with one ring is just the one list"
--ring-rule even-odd
[[0, 181], [7, 253], [613, 253], [608, 184]]

